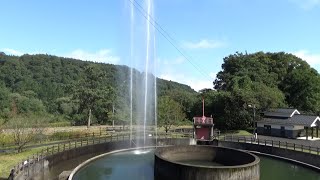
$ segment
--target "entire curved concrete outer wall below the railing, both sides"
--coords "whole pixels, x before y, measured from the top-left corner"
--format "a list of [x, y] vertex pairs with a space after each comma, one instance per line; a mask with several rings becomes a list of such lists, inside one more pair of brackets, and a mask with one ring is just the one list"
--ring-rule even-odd
[[[147, 144], [150, 146], [156, 145], [155, 140], [148, 140]], [[190, 139], [159, 139], [157, 141], [158, 146], [163, 145], [189, 145]], [[216, 144], [216, 143], [215, 143]], [[262, 153], [272, 154], [276, 156], [281, 156], [285, 158], [290, 158], [294, 160], [298, 160], [300, 162], [308, 163], [320, 168], [320, 156], [313, 155], [309, 153], [303, 153], [294, 150], [281, 149], [271, 146], [264, 145], [256, 145], [256, 144], [248, 144], [248, 143], [238, 143], [238, 142], [229, 142], [229, 141], [219, 141], [219, 146], [230, 147], [235, 149], [243, 149], [250, 151], [258, 151]], [[70, 150], [66, 150], [64, 152], [60, 152], [51, 156], [45, 157], [43, 161], [40, 161], [38, 164], [31, 165], [28, 169], [28, 172], [19, 173], [15, 179], [44, 179], [51, 168], [54, 167], [64, 167], [64, 162], [73, 161], [74, 158], [78, 158], [81, 156], [87, 156], [88, 158], [93, 157], [95, 155], [99, 155], [102, 153], [110, 152], [113, 150], [129, 148], [128, 140], [120, 140], [113, 142], [106, 142], [100, 144], [94, 144], [89, 146], [78, 147]], [[90, 155], [91, 154], [91, 155]], [[90, 155], [90, 156], [88, 156]], [[79, 163], [79, 162], [77, 162]], [[76, 164], [76, 163], [75, 163]], [[301, 165], [301, 164], [300, 164]], [[74, 167], [73, 167], [74, 168]], [[60, 168], [60, 172], [55, 172], [56, 175], [61, 173], [64, 169]], [[30, 171], [30, 172], [29, 172]], [[319, 171], [320, 172], [320, 171]], [[30, 173], [30, 174], [29, 174]], [[26, 176], [26, 174], [29, 174]]]

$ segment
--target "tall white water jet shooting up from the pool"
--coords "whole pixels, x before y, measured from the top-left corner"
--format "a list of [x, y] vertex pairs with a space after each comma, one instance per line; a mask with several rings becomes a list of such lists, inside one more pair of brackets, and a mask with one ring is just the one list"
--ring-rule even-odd
[[[146, 0], [143, 5], [130, 2], [130, 129], [136, 125], [136, 145], [144, 146], [147, 127], [156, 125], [155, 29], [150, 23], [153, 1]], [[141, 13], [139, 18], [135, 12]]]

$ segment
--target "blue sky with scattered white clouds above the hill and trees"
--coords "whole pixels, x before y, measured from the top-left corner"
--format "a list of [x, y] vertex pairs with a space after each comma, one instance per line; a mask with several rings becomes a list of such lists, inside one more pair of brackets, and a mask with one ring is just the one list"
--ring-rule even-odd
[[[161, 78], [211, 88], [223, 57], [236, 51], [285, 51], [320, 70], [320, 0], [153, 0], [152, 9], [189, 57], [151, 33]], [[134, 59], [145, 57], [146, 22], [135, 8], [131, 26], [130, 14], [130, 0], [2, 0], [0, 51], [132, 65], [131, 42]]]

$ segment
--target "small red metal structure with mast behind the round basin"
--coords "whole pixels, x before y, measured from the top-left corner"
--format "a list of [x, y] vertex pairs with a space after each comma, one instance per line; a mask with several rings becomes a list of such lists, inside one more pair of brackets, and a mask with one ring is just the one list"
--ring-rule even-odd
[[202, 98], [202, 117], [193, 117], [194, 139], [211, 141], [213, 136], [213, 118], [204, 115], [204, 99]]

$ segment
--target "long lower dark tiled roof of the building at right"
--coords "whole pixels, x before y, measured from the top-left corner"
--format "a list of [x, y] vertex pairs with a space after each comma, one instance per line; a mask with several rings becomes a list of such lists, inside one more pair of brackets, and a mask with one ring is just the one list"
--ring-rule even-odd
[[[264, 118], [262, 121], [258, 121], [264, 124], [279, 124], [279, 125], [301, 125], [311, 127], [315, 120], [320, 121], [318, 116], [310, 115], [294, 115], [292, 118], [287, 119], [276, 119], [276, 118]], [[320, 122], [317, 122], [318, 124]]]

